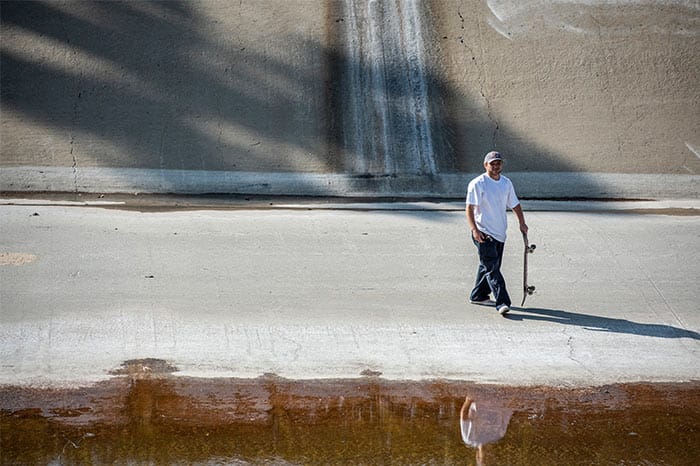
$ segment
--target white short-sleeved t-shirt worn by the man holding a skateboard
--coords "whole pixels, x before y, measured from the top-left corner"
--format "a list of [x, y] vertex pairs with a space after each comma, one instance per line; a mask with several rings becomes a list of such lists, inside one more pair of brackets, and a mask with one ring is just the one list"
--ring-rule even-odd
[[501, 175], [498, 181], [486, 173], [469, 182], [467, 205], [473, 205], [476, 227], [496, 241], [506, 241], [508, 218], [506, 209], [520, 204], [510, 179]]

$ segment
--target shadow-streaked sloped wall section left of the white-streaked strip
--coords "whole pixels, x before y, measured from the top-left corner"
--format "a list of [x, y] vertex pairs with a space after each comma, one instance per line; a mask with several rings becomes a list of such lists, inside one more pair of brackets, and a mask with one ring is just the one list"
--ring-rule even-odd
[[326, 171], [317, 1], [3, 2], [3, 165]]

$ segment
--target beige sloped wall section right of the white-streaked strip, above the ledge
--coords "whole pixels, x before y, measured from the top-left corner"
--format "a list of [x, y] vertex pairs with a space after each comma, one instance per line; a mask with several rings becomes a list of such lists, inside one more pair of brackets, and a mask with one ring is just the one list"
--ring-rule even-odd
[[697, 2], [445, 1], [439, 17], [461, 170], [490, 147], [515, 171], [700, 170]]

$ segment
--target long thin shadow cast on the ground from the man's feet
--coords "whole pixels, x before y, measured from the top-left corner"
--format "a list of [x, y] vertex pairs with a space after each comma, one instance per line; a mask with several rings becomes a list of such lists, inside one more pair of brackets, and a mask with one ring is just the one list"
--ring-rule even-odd
[[556, 309], [527, 308], [507, 314], [510, 320], [538, 320], [564, 325], [575, 325], [595, 332], [627, 333], [657, 338], [692, 338], [700, 340], [700, 333], [663, 324], [644, 324], [627, 319], [614, 319]]

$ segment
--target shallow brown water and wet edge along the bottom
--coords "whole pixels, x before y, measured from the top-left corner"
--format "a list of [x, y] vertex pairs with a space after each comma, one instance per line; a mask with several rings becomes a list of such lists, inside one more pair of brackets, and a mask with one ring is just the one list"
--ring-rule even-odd
[[700, 460], [700, 382], [567, 389], [374, 376], [198, 379], [176, 376], [176, 368], [155, 359], [128, 361], [114, 373], [84, 388], [0, 388], [1, 463]]

